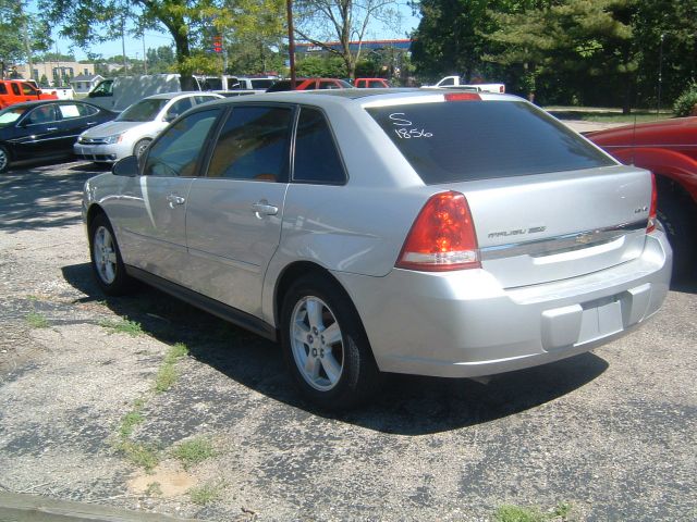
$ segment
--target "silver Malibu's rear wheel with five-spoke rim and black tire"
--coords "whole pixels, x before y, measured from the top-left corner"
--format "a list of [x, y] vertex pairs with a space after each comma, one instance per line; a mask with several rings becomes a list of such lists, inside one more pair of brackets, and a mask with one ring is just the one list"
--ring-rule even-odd
[[328, 278], [302, 277], [291, 286], [281, 308], [281, 341], [295, 384], [321, 408], [351, 408], [379, 387], [358, 314]]

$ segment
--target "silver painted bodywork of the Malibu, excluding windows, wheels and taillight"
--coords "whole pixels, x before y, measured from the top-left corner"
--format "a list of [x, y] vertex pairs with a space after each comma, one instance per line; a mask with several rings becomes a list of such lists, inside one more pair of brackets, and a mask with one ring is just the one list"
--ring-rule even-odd
[[[431, 91], [389, 91], [213, 102], [321, 109], [346, 184], [201, 177], [176, 186], [105, 174], [87, 183], [84, 206], [107, 212], [127, 264], [271, 327], [279, 325], [277, 290], [288, 268], [326, 269], [353, 300], [378, 366], [389, 372], [476, 376], [539, 364], [591, 349], [659, 309], [672, 252], [660, 229], [646, 233], [648, 172], [612, 160], [582, 171], [425, 185], [364, 107], [442, 100]], [[173, 190], [185, 199], [174, 209], [167, 200]], [[395, 269], [425, 202], [445, 190], [467, 198], [481, 268]]]

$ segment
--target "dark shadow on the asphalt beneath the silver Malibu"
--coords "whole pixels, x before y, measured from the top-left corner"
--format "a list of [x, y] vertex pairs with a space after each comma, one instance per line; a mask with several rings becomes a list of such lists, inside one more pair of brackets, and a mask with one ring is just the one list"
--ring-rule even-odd
[[102, 301], [118, 315], [138, 322], [148, 335], [167, 344], [184, 343], [192, 357], [246, 387], [313, 414], [383, 433], [424, 435], [512, 415], [563, 397], [608, 368], [600, 357], [584, 353], [487, 383], [388, 374], [382, 390], [367, 405], [327, 412], [297, 394], [279, 345], [145, 285], [131, 297], [108, 297], [88, 263], [64, 266], [63, 276], [85, 294], [82, 302]]

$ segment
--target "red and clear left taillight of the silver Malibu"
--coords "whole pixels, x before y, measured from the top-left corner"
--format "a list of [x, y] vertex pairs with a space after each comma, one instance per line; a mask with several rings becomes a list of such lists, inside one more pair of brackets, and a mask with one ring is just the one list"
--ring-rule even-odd
[[450, 191], [431, 196], [406, 236], [396, 266], [429, 272], [481, 266], [464, 195]]

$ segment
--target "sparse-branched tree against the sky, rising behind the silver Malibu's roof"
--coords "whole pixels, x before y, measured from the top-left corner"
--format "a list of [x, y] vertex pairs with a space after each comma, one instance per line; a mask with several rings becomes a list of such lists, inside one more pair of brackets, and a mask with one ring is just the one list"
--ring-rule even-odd
[[[297, 0], [297, 35], [344, 63], [345, 76], [353, 78], [360, 59], [362, 44], [371, 21], [394, 24], [399, 21], [395, 0]], [[329, 42], [337, 41], [338, 46]], [[350, 42], [357, 42], [351, 50]]]

